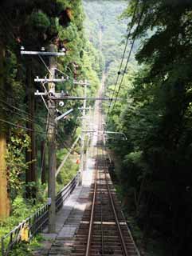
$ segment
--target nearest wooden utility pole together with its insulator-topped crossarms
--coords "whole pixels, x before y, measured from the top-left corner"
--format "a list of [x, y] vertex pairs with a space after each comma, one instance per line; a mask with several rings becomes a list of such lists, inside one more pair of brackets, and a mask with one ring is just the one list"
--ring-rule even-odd
[[[49, 57], [49, 68], [46, 66], [45, 62], [41, 58], [41, 61], [45, 65], [46, 69], [49, 70], [49, 79], [47, 78], [36, 78], [34, 82], [41, 82], [41, 85], [45, 89], [45, 93], [42, 93], [41, 98], [45, 103], [45, 106], [49, 112], [49, 126], [48, 126], [48, 142], [49, 142], [49, 179], [48, 179], [48, 205], [49, 205], [49, 233], [56, 232], [56, 190], [55, 190], [55, 173], [57, 168], [57, 110], [56, 110], [56, 101], [53, 100], [55, 95], [55, 82], [63, 82], [66, 79], [56, 79], [55, 70], [57, 66], [56, 58], [59, 56], [65, 56], [65, 49], [62, 49], [62, 52], [57, 52], [57, 47], [53, 44], [49, 46], [49, 52], [46, 52], [44, 47], [41, 51], [28, 51], [25, 48], [21, 47], [22, 55], [37, 55], [39, 58], [41, 56]], [[45, 88], [45, 83], [48, 83], [48, 90]], [[35, 94], [39, 95], [39, 94]], [[48, 98], [48, 106], [45, 102], [45, 98]], [[63, 95], [63, 94], [62, 94]], [[54, 98], [55, 99], [55, 98]]]

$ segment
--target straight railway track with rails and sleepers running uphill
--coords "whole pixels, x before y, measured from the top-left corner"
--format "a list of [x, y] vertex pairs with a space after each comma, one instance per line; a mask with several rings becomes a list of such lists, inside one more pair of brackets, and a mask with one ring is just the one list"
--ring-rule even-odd
[[95, 177], [88, 200], [71, 255], [139, 256], [108, 174], [102, 140], [96, 145]]

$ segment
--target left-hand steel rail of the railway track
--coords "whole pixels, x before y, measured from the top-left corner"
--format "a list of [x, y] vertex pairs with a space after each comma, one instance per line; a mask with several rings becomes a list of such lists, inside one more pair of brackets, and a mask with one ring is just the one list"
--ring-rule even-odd
[[94, 181], [94, 192], [93, 192], [93, 200], [92, 200], [92, 213], [91, 213], [91, 219], [90, 219], [90, 222], [89, 222], [88, 242], [87, 242], [87, 246], [86, 246], [85, 256], [89, 255], [90, 248], [91, 248], [91, 241], [92, 241], [92, 226], [93, 226], [94, 210], [95, 210], [95, 203], [96, 203], [97, 170], [98, 170], [98, 162], [96, 162], [96, 176], [95, 176], [95, 181]]

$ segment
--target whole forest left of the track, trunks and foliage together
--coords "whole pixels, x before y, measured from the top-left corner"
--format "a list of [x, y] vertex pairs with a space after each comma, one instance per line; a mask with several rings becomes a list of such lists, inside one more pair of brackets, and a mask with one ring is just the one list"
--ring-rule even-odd
[[[96, 49], [84, 36], [84, 11], [81, 1], [5, 1], [0, 4], [0, 236], [32, 214], [47, 198], [48, 122], [41, 97], [43, 91], [34, 78], [49, 78], [49, 58], [21, 54], [54, 44], [65, 48], [57, 58], [57, 91], [82, 96], [82, 86], [74, 80], [88, 79], [89, 94], [99, 84], [100, 63]], [[73, 108], [73, 114], [57, 127], [57, 166], [80, 134], [78, 107], [81, 102], [64, 102], [62, 112]], [[80, 145], [73, 150], [78, 157]], [[69, 158], [57, 175], [57, 191], [76, 174], [76, 158]], [[19, 254], [19, 253], [18, 253]], [[14, 254], [16, 255], [16, 253]]]

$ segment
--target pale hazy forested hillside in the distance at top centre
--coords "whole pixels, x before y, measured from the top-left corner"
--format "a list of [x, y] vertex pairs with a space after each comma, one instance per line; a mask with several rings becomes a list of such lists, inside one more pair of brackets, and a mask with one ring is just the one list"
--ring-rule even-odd
[[100, 55], [100, 58], [104, 58], [106, 70], [121, 58], [123, 46], [120, 42], [127, 24], [118, 20], [118, 14], [125, 6], [124, 1], [84, 1], [86, 32], [89, 41], [104, 56]]

